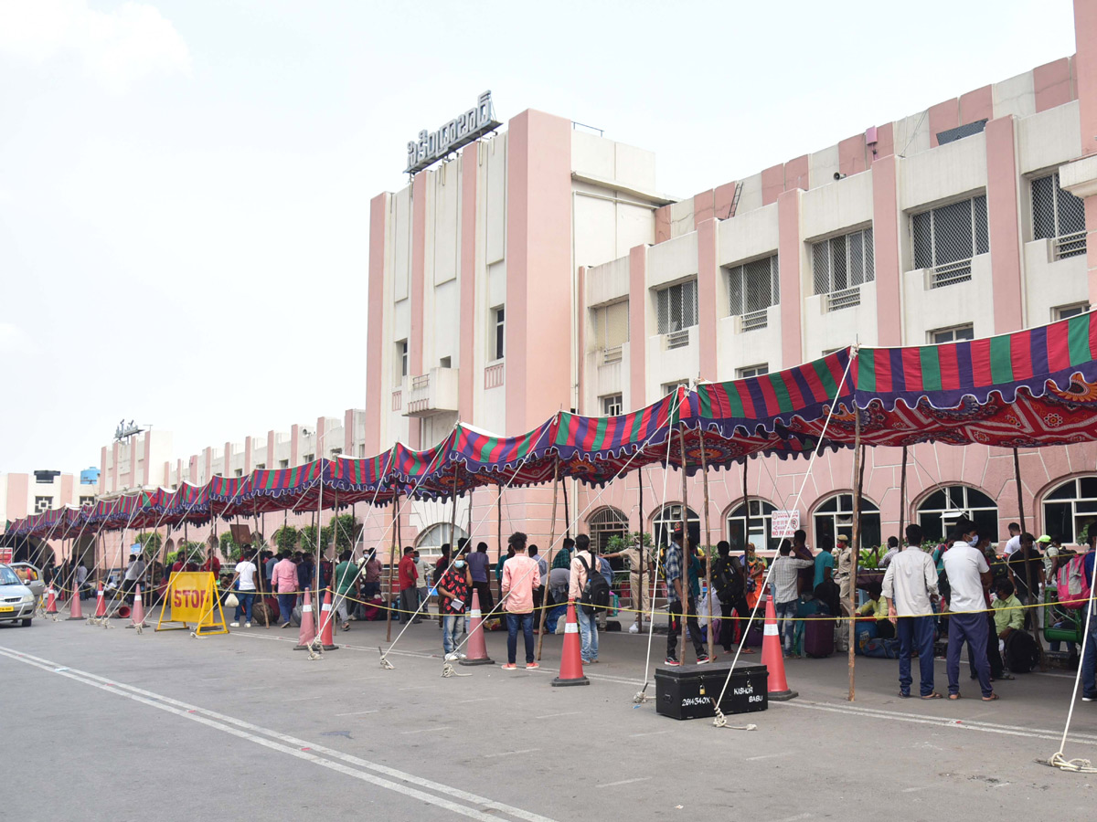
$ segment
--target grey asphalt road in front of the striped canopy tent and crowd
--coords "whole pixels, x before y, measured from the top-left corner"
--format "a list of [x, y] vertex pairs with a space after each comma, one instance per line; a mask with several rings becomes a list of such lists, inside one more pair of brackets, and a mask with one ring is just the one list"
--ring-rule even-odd
[[[1036, 762], [1059, 747], [1073, 685], [1063, 673], [1000, 683], [995, 704], [974, 687], [927, 703], [896, 697], [894, 661], [858, 658], [850, 704], [845, 657], [796, 660], [788, 677], [800, 697], [731, 718], [757, 724], [740, 731], [634, 705], [646, 642], [627, 633], [603, 633], [590, 686], [554, 688], [561, 637], [546, 638], [539, 672], [442, 678], [433, 623], [409, 628], [393, 671], [378, 665], [384, 624], [354, 624], [319, 661], [293, 651], [289, 630], [193, 639], [113, 624], [0, 628], [4, 819], [939, 822], [1094, 811], [1097, 775]], [[653, 660], [664, 643], [656, 635]], [[504, 649], [505, 635], [489, 635], [497, 662]], [[1078, 701], [1066, 753], [1097, 761], [1097, 704]]]

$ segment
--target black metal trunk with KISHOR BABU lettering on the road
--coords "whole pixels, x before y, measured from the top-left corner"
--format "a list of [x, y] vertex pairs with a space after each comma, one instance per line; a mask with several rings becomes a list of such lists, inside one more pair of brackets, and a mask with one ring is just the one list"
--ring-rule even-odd
[[[731, 662], [682, 665], [655, 670], [655, 710], [675, 719], [714, 717], [712, 701], [720, 697]], [[750, 713], [769, 707], [769, 671], [765, 665], [739, 663], [720, 703], [725, 715]]]

